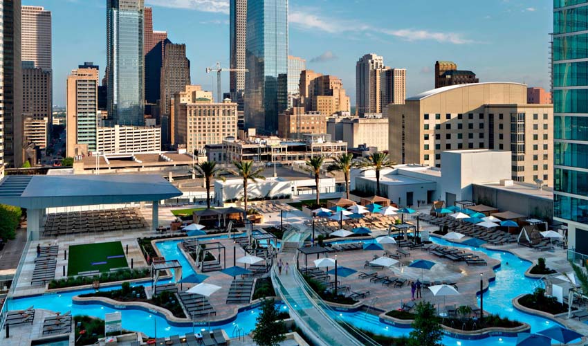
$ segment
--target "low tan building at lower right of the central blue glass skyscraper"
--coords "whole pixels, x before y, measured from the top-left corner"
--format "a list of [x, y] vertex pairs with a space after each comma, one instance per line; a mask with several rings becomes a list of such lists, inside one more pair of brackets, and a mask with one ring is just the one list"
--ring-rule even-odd
[[278, 118], [279, 138], [302, 139], [302, 134], [326, 134], [327, 116], [306, 112], [303, 107], [286, 109]]

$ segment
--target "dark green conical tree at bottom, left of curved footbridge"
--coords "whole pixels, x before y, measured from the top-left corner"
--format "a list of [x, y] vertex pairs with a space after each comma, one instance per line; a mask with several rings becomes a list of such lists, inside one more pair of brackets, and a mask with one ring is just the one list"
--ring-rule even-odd
[[286, 323], [278, 320], [279, 310], [273, 299], [261, 300], [261, 313], [257, 316], [253, 341], [260, 346], [277, 346], [286, 340]]

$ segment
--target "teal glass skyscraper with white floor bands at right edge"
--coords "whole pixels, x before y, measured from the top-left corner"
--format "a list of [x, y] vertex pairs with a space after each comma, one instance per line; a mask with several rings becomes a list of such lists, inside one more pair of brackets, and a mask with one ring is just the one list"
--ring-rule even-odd
[[588, 0], [553, 1], [553, 217], [588, 254]]

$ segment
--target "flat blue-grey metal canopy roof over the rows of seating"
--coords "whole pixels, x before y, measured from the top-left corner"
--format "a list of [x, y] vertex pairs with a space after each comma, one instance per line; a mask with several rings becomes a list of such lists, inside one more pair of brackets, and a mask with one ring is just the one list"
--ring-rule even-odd
[[0, 203], [27, 209], [160, 201], [182, 192], [153, 174], [6, 176]]

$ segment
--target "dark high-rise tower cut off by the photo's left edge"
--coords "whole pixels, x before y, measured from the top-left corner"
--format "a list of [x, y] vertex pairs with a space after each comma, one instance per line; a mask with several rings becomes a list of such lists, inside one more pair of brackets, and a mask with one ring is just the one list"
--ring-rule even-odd
[[21, 1], [0, 1], [0, 176], [4, 164], [20, 167], [23, 163], [22, 72], [21, 72]]

